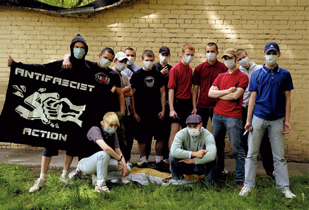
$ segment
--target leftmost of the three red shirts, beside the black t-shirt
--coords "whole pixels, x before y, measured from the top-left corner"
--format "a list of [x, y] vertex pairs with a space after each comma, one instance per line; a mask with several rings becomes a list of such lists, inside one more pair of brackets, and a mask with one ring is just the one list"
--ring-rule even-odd
[[174, 97], [190, 99], [192, 95], [192, 69], [182, 62], [177, 63], [170, 69], [168, 89], [174, 89]]

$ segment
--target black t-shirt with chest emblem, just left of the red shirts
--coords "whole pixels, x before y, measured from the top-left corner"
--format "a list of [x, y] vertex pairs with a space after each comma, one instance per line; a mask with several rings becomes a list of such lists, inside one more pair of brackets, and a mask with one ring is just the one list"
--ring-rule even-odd
[[139, 69], [130, 79], [131, 87], [135, 90], [135, 110], [139, 113], [148, 113], [161, 110], [161, 92], [163, 76], [154, 68], [150, 71]]

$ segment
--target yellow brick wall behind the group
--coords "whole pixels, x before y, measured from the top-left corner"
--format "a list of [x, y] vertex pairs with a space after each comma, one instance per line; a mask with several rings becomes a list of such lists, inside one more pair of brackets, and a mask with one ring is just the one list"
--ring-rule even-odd
[[[8, 55], [17, 61], [47, 63], [69, 53], [71, 38], [80, 33], [87, 39], [87, 59], [97, 60], [102, 47], [116, 52], [126, 47], [141, 52], [167, 45], [170, 63], [181, 60], [181, 46], [192, 43], [194, 69], [205, 61], [205, 45], [218, 43], [224, 49], [247, 49], [258, 64], [268, 41], [279, 43], [279, 65], [293, 77], [290, 124], [286, 135], [288, 159], [309, 159], [308, 109], [308, 0], [150, 0], [126, 8], [114, 8], [84, 18], [49, 16], [15, 8], [0, 8], [0, 110], [8, 84]], [[221, 60], [221, 59], [220, 59]], [[222, 61], [222, 60], [221, 60]], [[229, 146], [227, 145], [227, 151]]]

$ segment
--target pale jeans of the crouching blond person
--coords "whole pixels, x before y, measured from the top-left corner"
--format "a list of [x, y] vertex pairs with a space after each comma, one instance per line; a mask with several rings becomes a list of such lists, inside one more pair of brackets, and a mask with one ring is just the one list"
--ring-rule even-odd
[[[106, 185], [106, 180], [122, 177], [117, 169], [117, 161], [111, 159], [111, 155], [103, 150], [80, 160], [79, 167], [85, 174], [96, 173], [98, 176], [97, 185], [100, 186]], [[126, 165], [126, 167], [128, 168], [128, 174], [130, 174], [130, 166]]]

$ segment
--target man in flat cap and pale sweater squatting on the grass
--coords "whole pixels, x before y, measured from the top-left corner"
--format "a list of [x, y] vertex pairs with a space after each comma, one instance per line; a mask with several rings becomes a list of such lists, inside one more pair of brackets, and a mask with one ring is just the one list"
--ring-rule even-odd
[[214, 136], [203, 128], [200, 115], [190, 115], [185, 123], [187, 128], [177, 132], [170, 148], [172, 179], [181, 179], [183, 174], [205, 175], [204, 180], [212, 185], [217, 151]]

